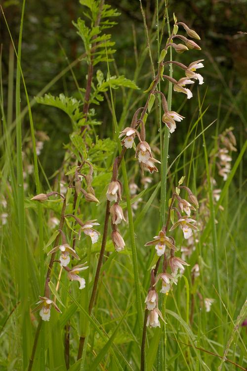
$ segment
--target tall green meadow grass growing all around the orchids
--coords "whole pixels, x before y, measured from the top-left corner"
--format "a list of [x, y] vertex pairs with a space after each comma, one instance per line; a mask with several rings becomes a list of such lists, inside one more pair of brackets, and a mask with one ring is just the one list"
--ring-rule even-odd
[[[104, 1], [99, 3], [104, 6]], [[141, 183], [139, 162], [134, 158], [133, 152], [128, 149], [126, 154], [123, 154], [119, 133], [124, 127], [130, 126], [130, 113], [133, 114], [146, 102], [148, 105], [152, 87], [149, 92], [142, 92], [157, 73], [160, 52], [165, 47], [164, 40], [170, 35], [170, 25], [173, 23], [169, 21], [172, 9], [167, 8], [166, 2], [164, 5], [156, 1], [156, 14], [152, 19], [151, 28], [148, 29], [145, 12], [141, 7], [145, 40], [143, 46], [139, 47], [138, 63], [132, 73], [134, 83], [123, 80], [122, 76], [118, 75], [121, 89], [115, 90], [118, 86], [114, 85], [117, 83], [113, 78], [116, 72], [111, 63], [113, 51], [111, 45], [107, 45], [107, 40], [104, 40], [106, 55], [102, 56], [100, 64], [93, 70], [94, 88], [98, 66], [108, 72], [108, 77], [113, 78], [107, 86], [109, 93], [105, 91], [102, 94], [108, 101], [112, 115], [112, 123], [108, 125], [102, 139], [109, 137], [112, 140], [98, 141], [100, 130], [96, 125], [90, 129], [93, 118], [89, 110], [87, 121], [83, 121], [80, 126], [76, 126], [74, 113], [67, 112], [71, 119], [71, 137], [67, 139], [67, 142], [70, 142], [64, 148], [61, 168], [53, 178], [48, 178], [36, 149], [39, 133], [32, 113], [39, 110], [39, 106], [36, 105], [36, 100], [28, 95], [25, 66], [21, 58], [24, 12], [25, 1], [22, 4], [18, 47], [14, 45], [12, 38], [10, 39], [7, 94], [3, 93], [2, 75], [0, 76], [0, 369], [27, 370], [29, 367], [30, 370], [54, 371], [140, 370], [144, 328], [147, 334], [144, 337], [143, 365], [147, 371], [246, 370], [247, 331], [246, 327], [242, 326], [247, 317], [244, 259], [247, 211], [244, 207], [246, 181], [243, 176], [243, 160], [247, 148], [247, 141], [244, 140], [245, 117], [239, 107], [238, 97], [233, 95], [228, 83], [224, 81], [217, 63], [206, 50], [204, 53], [215, 68], [219, 84], [226, 89], [227, 106], [221, 101], [224, 96], [219, 99], [215, 112], [215, 106], [206, 106], [205, 97], [210, 95], [210, 91], [205, 88], [205, 84], [198, 91], [194, 87], [193, 99], [194, 102], [197, 101], [197, 105], [192, 105], [190, 114], [186, 114], [186, 119], [178, 123], [171, 135], [161, 120], [163, 112], [160, 94], [155, 94], [157, 96], [148, 118], [144, 114], [141, 116], [142, 120], [147, 119], [145, 127], [148, 141], [152, 148], [157, 147], [156, 157], [160, 156], [158, 158], [162, 162], [158, 165], [159, 173], [152, 175], [152, 183], [145, 187]], [[3, 19], [8, 28], [4, 15]], [[98, 21], [100, 24], [100, 20]], [[11, 30], [9, 34], [11, 36]], [[148, 50], [146, 45], [149, 46]], [[193, 52], [192, 50], [190, 55], [193, 55]], [[183, 55], [174, 56], [171, 47], [168, 54], [170, 55], [167, 60], [173, 58], [182, 61]], [[93, 60], [91, 59], [90, 65], [90, 60], [83, 59], [84, 57], [83, 54], [82, 63], [88, 62], [92, 68]], [[115, 60], [117, 63], [116, 57]], [[37, 96], [55, 87], [58, 79], [71, 71], [75, 79], [75, 91], [71, 95], [75, 93], [78, 97], [77, 84], [82, 81], [82, 77], [79, 79], [75, 76], [73, 67], [79, 62], [80, 57], [72, 61], [69, 67], [54, 77]], [[144, 62], [150, 63], [150, 69], [142, 75]], [[117, 66], [115, 68], [117, 70]], [[206, 76], [207, 67], [205, 70]], [[130, 76], [130, 71], [126, 71], [126, 75]], [[169, 76], [174, 76], [172, 64]], [[84, 77], [83, 88], [86, 84]], [[135, 84], [142, 90], [138, 92], [137, 89], [131, 89], [136, 88]], [[188, 102], [183, 101], [180, 107], [177, 106], [174, 94], [178, 93], [172, 94], [172, 83], [161, 79], [157, 87], [157, 90], [167, 96], [168, 109], [182, 114], [184, 105]], [[94, 90], [91, 87], [90, 89], [90, 93], [93, 93]], [[120, 110], [116, 101], [121, 94], [124, 104]], [[50, 101], [42, 102], [50, 104]], [[56, 104], [56, 107], [61, 108], [60, 103]], [[90, 104], [95, 107], [97, 115], [97, 105], [93, 105], [93, 102]], [[215, 154], [219, 135], [232, 126], [230, 117], [236, 106], [239, 128], [233, 130], [233, 133], [236, 133], [237, 151], [232, 153], [231, 171], [226, 181], [223, 181], [218, 175], [218, 159]], [[81, 107], [82, 104], [79, 110]], [[209, 121], [209, 112], [215, 121]], [[102, 121], [103, 117], [97, 119]], [[87, 125], [89, 128], [86, 128]], [[79, 136], [79, 139], [76, 134], [78, 130], [81, 132], [82, 127], [86, 128], [87, 134]], [[186, 130], [183, 130], [184, 127]], [[177, 140], [180, 136], [183, 136], [182, 140]], [[95, 147], [96, 149], [93, 149]], [[28, 148], [31, 148], [32, 153]], [[82, 157], [86, 156], [86, 151], [89, 153], [89, 161], [93, 163], [92, 186], [100, 201], [97, 205], [85, 202], [82, 195], [75, 196], [74, 188], [70, 187], [67, 188], [64, 202], [53, 196], [42, 203], [30, 200], [34, 195], [48, 193], [51, 189], [62, 193], [61, 181], [67, 182], [67, 186], [73, 185], [73, 178], [70, 178], [74, 177], [73, 169], [80, 164]], [[88, 236], [83, 235], [78, 239], [77, 224], [66, 216], [78, 215], [83, 222], [97, 219], [100, 223], [97, 230], [101, 234], [104, 233], [104, 221], [107, 216], [109, 218], [109, 210], [105, 212], [105, 194], [112, 177], [112, 165], [118, 153], [122, 161], [121, 166], [118, 164], [118, 179], [124, 184], [120, 205], [127, 220], [119, 227], [126, 244], [121, 252], [114, 249], [108, 231], [111, 228], [110, 223], [109, 228], [108, 224], [105, 225], [105, 232], [108, 232], [105, 243], [100, 237], [98, 242], [91, 244]], [[27, 165], [34, 165], [33, 173], [28, 174]], [[85, 171], [88, 171], [87, 167]], [[42, 174], [44, 182], [41, 182], [39, 174]], [[183, 184], [198, 196], [200, 207], [196, 219], [201, 228], [195, 236], [191, 254], [186, 257], [190, 266], [185, 268], [177, 285], [173, 285], [173, 290], [170, 290], [168, 295], [159, 294], [159, 308], [165, 323], [161, 321], [160, 328], [146, 328], [148, 313], [146, 311], [145, 315], [144, 300], [150, 287], [151, 269], [157, 264], [158, 257], [154, 248], [144, 245], [153, 235], [157, 235], [165, 224], [168, 200], [182, 176], [185, 176]], [[216, 179], [217, 185], [212, 183], [212, 178]], [[131, 194], [131, 188], [129, 190], [133, 183], [138, 185], [135, 195]], [[214, 198], [215, 188], [221, 189], [217, 200]], [[46, 254], [54, 240], [55, 245], [59, 243], [59, 234], [55, 232], [58, 227], [52, 226], [51, 218], [59, 219], [62, 211], [65, 212], [65, 218], [62, 214], [61, 220], [65, 222], [63, 230], [67, 241], [71, 246], [75, 243], [80, 263], [87, 261], [89, 267], [82, 274], [86, 287], [82, 291], [79, 290], [77, 282], [70, 282], [66, 272], [61, 271], [59, 264], [55, 262], [52, 267], [50, 295], [62, 313], [58, 314], [52, 309], [49, 322], [42, 322], [39, 312], [32, 311], [39, 295], [44, 294], [45, 275], [49, 265]], [[174, 218], [176, 219], [175, 212]], [[183, 239], [180, 229], [171, 233], [176, 240], [176, 246], [179, 247], [177, 256], [181, 256], [181, 247], [188, 247], [188, 242]], [[100, 254], [102, 261], [99, 265]], [[75, 265], [74, 261], [72, 264]], [[200, 267], [199, 277], [192, 271], [196, 264]], [[95, 286], [97, 267], [99, 276]], [[160, 266], [159, 273], [161, 271]], [[94, 286], [96, 289], [93, 305], [88, 309]], [[206, 298], [213, 299], [210, 311], [206, 311]], [[80, 354], [78, 348], [80, 349], [79, 343], [82, 343], [82, 339]]]

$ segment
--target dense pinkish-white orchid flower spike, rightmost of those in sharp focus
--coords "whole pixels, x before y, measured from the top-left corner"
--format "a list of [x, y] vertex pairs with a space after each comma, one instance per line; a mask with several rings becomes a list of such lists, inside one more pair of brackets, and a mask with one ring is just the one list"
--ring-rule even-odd
[[[184, 266], [189, 266], [185, 260], [175, 256], [175, 252], [178, 251], [175, 240], [172, 236], [166, 235], [169, 223], [170, 221], [173, 223], [169, 231], [173, 231], [175, 228], [180, 227], [185, 239], [191, 238], [193, 235], [192, 231], [198, 230], [196, 227], [196, 220], [191, 218], [191, 211], [196, 211], [199, 207], [198, 200], [189, 187], [182, 185], [183, 180], [184, 177], [179, 181], [176, 191], [173, 192], [169, 200], [166, 225], [163, 226], [159, 235], [154, 237], [154, 240], [145, 244], [145, 246], [155, 245], [155, 250], [159, 259], [163, 258], [162, 273], [155, 279], [154, 270], [151, 271], [151, 286], [145, 300], [146, 309], [149, 311], [147, 326], [150, 325], [150, 327], [160, 327], [159, 317], [162, 318], [158, 308], [158, 293], [155, 286], [161, 281], [162, 288], [160, 292], [168, 295], [168, 292], [172, 290], [172, 284], [177, 284], [178, 278], [183, 274]], [[186, 190], [188, 199], [191, 203], [180, 196], [180, 191], [182, 189]], [[177, 202], [177, 207], [175, 207], [175, 202]], [[174, 212], [176, 212], [178, 217], [176, 222], [174, 222]], [[186, 215], [182, 215], [182, 213]], [[167, 272], [168, 267], [170, 268], [170, 273]], [[193, 267], [193, 270], [195, 271], [196, 268]]]

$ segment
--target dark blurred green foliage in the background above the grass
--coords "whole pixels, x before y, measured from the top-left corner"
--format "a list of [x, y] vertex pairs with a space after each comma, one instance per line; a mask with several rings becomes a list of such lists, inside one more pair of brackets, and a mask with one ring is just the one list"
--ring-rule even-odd
[[[117, 49], [114, 54], [116, 64], [111, 64], [111, 74], [124, 74], [125, 77], [133, 80], [136, 58], [137, 56], [140, 58], [141, 52], [146, 48], [139, 1], [111, 0], [107, 2], [118, 8], [122, 13], [116, 19], [118, 25], [110, 29], [112, 40], [116, 42]], [[153, 41], [152, 52], [156, 65], [156, 25], [153, 20], [155, 3], [156, 1], [143, 1], [147, 24]], [[160, 0], [159, 5], [162, 7], [164, 5], [163, 1]], [[246, 124], [247, 35], [243, 34], [247, 31], [246, 1], [170, 1], [169, 8], [172, 11], [174, 10], [179, 21], [183, 21], [195, 29], [202, 39], [200, 42], [202, 52], [193, 51], [193, 57], [194, 60], [205, 59], [205, 69], [202, 71], [205, 84], [201, 87], [200, 93], [201, 96], [206, 93], [204, 107], [206, 108], [209, 105], [206, 123], [210, 123], [217, 118], [220, 105], [219, 131], [232, 125], [235, 127], [236, 137], [239, 138], [239, 136], [245, 134], [243, 127]], [[17, 0], [3, 1], [3, 9], [17, 44], [21, 2]], [[30, 97], [39, 93], [55, 75], [68, 65], [68, 61], [72, 62], [84, 52], [82, 41], [72, 24], [72, 21], [78, 17], [83, 18], [83, 11], [84, 9], [79, 1], [27, 1], [24, 16], [22, 68]], [[3, 44], [3, 87], [7, 91], [10, 40], [4, 22], [1, 22], [0, 27]], [[154, 36], [152, 36], [152, 33]], [[135, 38], [136, 45], [134, 44]], [[175, 58], [188, 64], [191, 61], [191, 53], [184, 53], [178, 57], [175, 55]], [[106, 63], [100, 63], [96, 68], [100, 68], [105, 73], [107, 71]], [[81, 88], [86, 85], [86, 72], [85, 61], [74, 67], [74, 73]], [[175, 68], [174, 77], [180, 78], [181, 71]], [[147, 54], [137, 81], [135, 81], [140, 90], [132, 93], [133, 103], [136, 99], [141, 98], [143, 90], [147, 88], [151, 79], [150, 60]], [[163, 91], [165, 91], [166, 85], [163, 84]], [[194, 87], [194, 96], [196, 95], [196, 89]], [[65, 93], [68, 96], [78, 97], [78, 91], [70, 72], [53, 85], [49, 92], [55, 96], [59, 93]], [[117, 91], [115, 99], [117, 118], [119, 119], [122, 114], [125, 96]], [[138, 104], [141, 104], [141, 101]], [[177, 110], [183, 104], [183, 94], [175, 94], [173, 109]], [[126, 124], [129, 123], [130, 115], [136, 107], [136, 104], [132, 104], [132, 109], [128, 111], [129, 116], [125, 120]], [[182, 107], [181, 114], [191, 120], [196, 113], [196, 107], [197, 99], [193, 98]], [[107, 101], [105, 100], [100, 107], [95, 106], [95, 108], [97, 119], [102, 121], [102, 125], [97, 127], [97, 133], [101, 138], [112, 136], [112, 117]], [[41, 154], [44, 170], [50, 175], [61, 164], [64, 155], [63, 144], [68, 143], [69, 133], [72, 131], [71, 122], [62, 111], [43, 105], [36, 105], [33, 109], [33, 115], [36, 129], [47, 132], [50, 137]], [[153, 116], [149, 117], [148, 126], [150, 130], [154, 127], [154, 119]], [[28, 131], [28, 120], [24, 120], [24, 125]], [[173, 136], [173, 140], [170, 141], [171, 155], [172, 153], [177, 154], [181, 149], [183, 137], [187, 130], [186, 124], [180, 125], [179, 135]], [[213, 127], [211, 133], [214, 133]], [[207, 136], [210, 136], [210, 130], [207, 132]], [[239, 140], [238, 145], [241, 145]], [[47, 156], [49, 161], [47, 161]]]

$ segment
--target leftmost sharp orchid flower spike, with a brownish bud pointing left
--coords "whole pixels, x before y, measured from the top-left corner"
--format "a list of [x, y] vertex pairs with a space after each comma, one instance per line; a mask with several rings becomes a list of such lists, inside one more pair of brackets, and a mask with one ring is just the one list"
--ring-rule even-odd
[[[81, 174], [81, 170], [83, 165], [87, 165], [88, 172], [87, 174]], [[66, 220], [67, 224], [69, 225], [68, 218], [72, 217], [74, 218], [76, 225], [79, 226], [78, 232], [78, 239], [81, 238], [81, 233], [83, 232], [85, 235], [90, 236], [91, 243], [96, 243], [99, 238], [99, 232], [96, 231], [93, 227], [99, 226], [99, 223], [97, 223], [96, 220], [89, 220], [85, 223], [82, 222], [80, 218], [78, 218], [74, 214], [67, 214], [65, 215], [65, 210], [67, 206], [67, 198], [71, 195], [71, 190], [75, 189], [76, 196], [79, 196], [80, 194], [83, 194], [85, 201], [88, 202], [99, 202], [98, 199], [95, 197], [95, 192], [92, 187], [92, 175], [93, 175], [93, 168], [90, 162], [83, 161], [80, 166], [77, 166], [75, 168], [75, 176], [71, 180], [69, 186], [66, 188], [65, 192], [55, 192], [51, 191], [49, 193], [39, 193], [36, 196], [32, 198], [34, 201], [40, 201], [44, 202], [49, 200], [49, 197], [54, 195], [59, 195], [61, 197], [61, 200], [63, 201], [63, 208], [62, 208], [62, 214], [61, 214], [61, 220], [60, 222], [56, 219], [55, 225], [59, 224], [59, 229], [55, 231], [56, 238], [54, 241], [54, 247], [47, 253], [47, 255], [51, 256], [50, 264], [48, 268], [47, 278], [45, 281], [45, 294], [44, 296], [40, 296], [40, 301], [37, 303], [38, 306], [34, 309], [35, 311], [40, 310], [40, 316], [43, 321], [49, 321], [50, 319], [50, 309], [53, 306], [57, 312], [61, 313], [60, 309], [55, 304], [55, 301], [50, 299], [50, 290], [49, 290], [49, 282], [50, 282], [50, 271], [51, 267], [53, 265], [53, 262], [60, 263], [61, 269], [64, 269], [67, 272], [67, 278], [71, 281], [77, 280], [79, 281], [79, 289], [83, 289], [85, 287], [85, 279], [79, 276], [79, 273], [86, 270], [88, 267], [85, 266], [86, 262], [83, 264], [76, 265], [72, 268], [69, 268], [68, 265], [72, 259], [80, 260], [79, 255], [75, 251], [75, 245], [73, 242], [73, 246], [70, 246], [69, 243], [66, 240], [65, 233], [62, 231], [64, 220]], [[82, 188], [82, 182], [85, 181], [86, 189]], [[73, 185], [74, 183], [74, 185]], [[54, 218], [54, 217], [53, 217]], [[72, 228], [71, 228], [72, 229]], [[75, 232], [75, 231], [74, 231]], [[59, 244], [59, 239], [62, 239], [62, 243]], [[74, 239], [75, 241], [75, 239]], [[55, 260], [55, 254], [59, 252], [59, 260]]]

